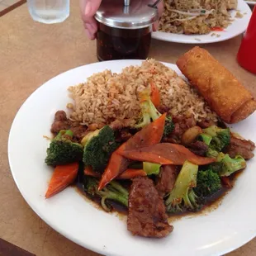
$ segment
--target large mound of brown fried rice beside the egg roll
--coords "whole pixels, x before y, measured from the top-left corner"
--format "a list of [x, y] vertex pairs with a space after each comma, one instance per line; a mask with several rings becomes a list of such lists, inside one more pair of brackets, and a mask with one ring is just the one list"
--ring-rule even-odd
[[82, 125], [109, 124], [114, 120], [138, 120], [140, 102], [138, 94], [149, 83], [154, 83], [161, 96], [161, 106], [173, 116], [194, 116], [196, 121], [216, 121], [204, 99], [183, 78], [154, 59], [140, 66], [129, 66], [121, 73], [105, 70], [94, 73], [86, 83], [69, 88], [73, 103], [69, 103], [70, 119]]

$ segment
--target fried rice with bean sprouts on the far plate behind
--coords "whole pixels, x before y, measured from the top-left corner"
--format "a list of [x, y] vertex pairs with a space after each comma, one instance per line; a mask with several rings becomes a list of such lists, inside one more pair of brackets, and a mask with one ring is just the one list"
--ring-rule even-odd
[[237, 0], [164, 0], [159, 31], [207, 34], [214, 27], [229, 26], [229, 10], [236, 8]]

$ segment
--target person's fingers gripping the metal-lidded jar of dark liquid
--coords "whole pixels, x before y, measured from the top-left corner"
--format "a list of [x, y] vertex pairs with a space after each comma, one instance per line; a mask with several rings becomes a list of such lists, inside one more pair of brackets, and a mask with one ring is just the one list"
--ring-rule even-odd
[[[140, 1], [138, 0], [131, 0], [131, 1], [136, 1], [138, 3], [138, 7], [140, 7], [140, 4], [141, 4]], [[147, 3], [153, 3], [155, 1], [156, 0], [150, 0], [150, 1], [145, 0], [145, 2]], [[81, 16], [83, 20], [83, 26], [90, 40], [94, 40], [96, 36], [97, 22], [94, 19], [94, 15], [97, 12], [98, 7], [100, 7], [101, 2], [102, 0], [80, 0], [80, 9], [81, 9]], [[161, 17], [164, 11], [163, 1], [159, 2], [158, 10], [159, 10], [159, 17]], [[158, 22], [155, 22], [153, 25], [153, 30], [157, 31], [157, 29], [158, 29]]]

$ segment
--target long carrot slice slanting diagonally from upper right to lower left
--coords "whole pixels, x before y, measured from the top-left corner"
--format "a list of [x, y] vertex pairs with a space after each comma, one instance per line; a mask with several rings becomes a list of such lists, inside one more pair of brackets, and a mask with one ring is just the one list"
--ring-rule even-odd
[[145, 126], [143, 129], [138, 131], [134, 136], [116, 149], [113, 154], [111, 154], [107, 168], [102, 174], [102, 178], [98, 185], [99, 190], [102, 190], [107, 183], [110, 183], [112, 179], [123, 173], [128, 167], [130, 161], [121, 155], [123, 151], [141, 149], [160, 142], [164, 133], [165, 118], [166, 114], [163, 114], [148, 126]]

